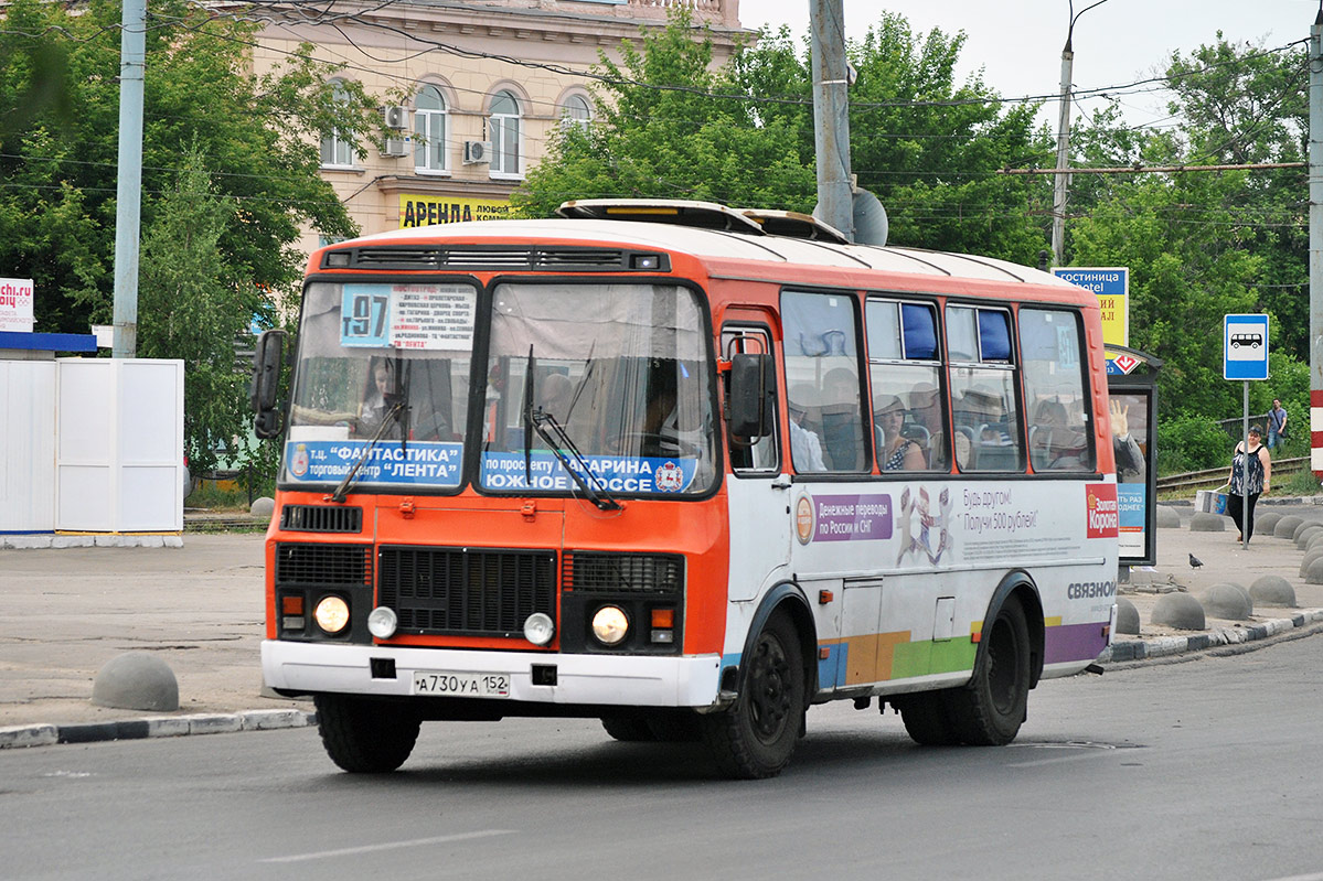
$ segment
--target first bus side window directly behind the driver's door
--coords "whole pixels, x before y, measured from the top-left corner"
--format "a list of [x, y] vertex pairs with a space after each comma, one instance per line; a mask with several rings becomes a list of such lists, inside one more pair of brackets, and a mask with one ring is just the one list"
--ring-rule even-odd
[[853, 298], [785, 291], [781, 316], [795, 471], [867, 471], [872, 444], [864, 439]]

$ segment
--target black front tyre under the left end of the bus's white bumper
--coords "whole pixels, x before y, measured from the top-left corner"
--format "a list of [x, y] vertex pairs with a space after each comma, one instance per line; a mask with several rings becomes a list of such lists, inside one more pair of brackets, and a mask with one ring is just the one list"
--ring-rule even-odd
[[318, 732], [331, 761], [351, 774], [384, 774], [405, 763], [422, 721], [406, 706], [318, 694]]

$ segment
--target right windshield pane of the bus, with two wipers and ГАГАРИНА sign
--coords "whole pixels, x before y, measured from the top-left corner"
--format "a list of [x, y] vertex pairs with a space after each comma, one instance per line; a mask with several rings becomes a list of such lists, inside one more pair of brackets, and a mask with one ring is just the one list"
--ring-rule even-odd
[[708, 332], [689, 290], [636, 282], [499, 284], [480, 485], [706, 492], [716, 478], [712, 401]]

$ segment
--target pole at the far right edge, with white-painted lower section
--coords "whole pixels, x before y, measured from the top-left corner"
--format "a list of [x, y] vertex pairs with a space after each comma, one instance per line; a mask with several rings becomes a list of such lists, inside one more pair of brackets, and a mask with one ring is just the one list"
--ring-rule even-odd
[[1323, 476], [1323, 5], [1310, 28], [1310, 437]]

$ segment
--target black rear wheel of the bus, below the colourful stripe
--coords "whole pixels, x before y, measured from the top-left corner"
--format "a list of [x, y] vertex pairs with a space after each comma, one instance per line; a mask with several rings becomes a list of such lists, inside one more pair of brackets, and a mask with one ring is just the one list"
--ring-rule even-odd
[[1002, 605], [983, 642], [970, 684], [943, 692], [946, 712], [964, 743], [1003, 746], [1020, 733], [1029, 704], [1029, 624], [1019, 599]]

